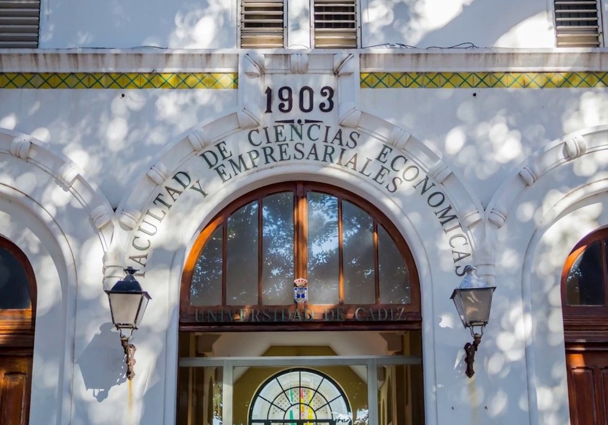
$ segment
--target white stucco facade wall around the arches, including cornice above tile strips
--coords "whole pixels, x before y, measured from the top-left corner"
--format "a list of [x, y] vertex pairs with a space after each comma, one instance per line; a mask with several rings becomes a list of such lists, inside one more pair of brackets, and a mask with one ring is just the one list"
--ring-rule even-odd
[[[182, 51], [161, 63], [167, 72], [238, 73], [238, 89], [0, 90], [0, 183], [7, 188], [0, 192], [0, 234], [24, 250], [39, 293], [49, 294], [36, 332], [32, 421], [48, 411], [57, 424], [173, 423], [179, 285], [192, 240], [238, 196], [304, 178], [371, 200], [409, 243], [421, 282], [427, 424], [567, 423], [556, 288], [574, 243], [608, 224], [606, 89], [361, 89], [360, 72], [598, 70], [605, 53], [349, 53]], [[0, 56], [1, 70], [154, 72], [149, 55], [158, 53], [36, 55]], [[309, 85], [316, 94], [320, 86], [335, 87], [335, 107], [320, 112], [317, 98], [309, 115], [276, 108], [265, 114], [264, 90], [283, 85]], [[420, 185], [393, 192], [380, 174], [294, 157], [267, 160], [223, 182], [199, 156], [218, 146], [243, 154], [263, 141], [252, 144], [250, 131], [255, 138], [276, 120], [303, 117], [358, 132], [356, 149], [377, 169], [383, 149], [404, 155], [420, 169]], [[183, 193], [163, 210], [154, 200], [169, 199], [165, 186], [176, 184], [178, 171], [192, 176], [188, 184], [198, 179], [207, 196], [176, 186]], [[424, 175], [453, 207], [463, 237], [450, 239], [422, 196]], [[31, 202], [14, 202], [12, 192]], [[164, 219], [145, 259], [134, 260], [148, 211]], [[456, 241], [471, 253], [462, 263]], [[135, 263], [145, 269], [140, 281], [153, 301], [134, 336], [136, 378], [128, 383], [103, 288]], [[470, 337], [449, 300], [460, 281], [457, 267], [469, 263], [498, 285], [471, 380], [461, 348]], [[49, 383], [55, 370], [63, 373], [60, 384]]]

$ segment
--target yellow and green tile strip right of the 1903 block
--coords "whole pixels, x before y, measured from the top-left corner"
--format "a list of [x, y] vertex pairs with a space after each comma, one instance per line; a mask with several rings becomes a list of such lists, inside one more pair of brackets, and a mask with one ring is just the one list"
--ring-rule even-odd
[[608, 87], [608, 72], [362, 72], [362, 89], [575, 89]]

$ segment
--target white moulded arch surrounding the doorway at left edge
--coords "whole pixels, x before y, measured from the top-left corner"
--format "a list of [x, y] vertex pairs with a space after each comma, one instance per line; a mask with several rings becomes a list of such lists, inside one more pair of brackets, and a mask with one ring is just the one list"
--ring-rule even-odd
[[[44, 418], [30, 420], [69, 423], [71, 394], [81, 383], [74, 384], [73, 362], [92, 336], [79, 329], [79, 291], [103, 294], [101, 257], [112, 236], [112, 210], [69, 158], [40, 140], [0, 129], [0, 163], [0, 234], [26, 254], [38, 287], [32, 403], [42, 407], [32, 413]], [[49, 386], [48, 376], [57, 386]]]

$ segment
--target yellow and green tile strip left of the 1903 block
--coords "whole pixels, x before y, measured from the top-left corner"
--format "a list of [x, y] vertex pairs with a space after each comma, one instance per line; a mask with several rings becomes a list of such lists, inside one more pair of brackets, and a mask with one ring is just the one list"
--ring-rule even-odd
[[0, 89], [236, 89], [236, 72], [5, 72]]

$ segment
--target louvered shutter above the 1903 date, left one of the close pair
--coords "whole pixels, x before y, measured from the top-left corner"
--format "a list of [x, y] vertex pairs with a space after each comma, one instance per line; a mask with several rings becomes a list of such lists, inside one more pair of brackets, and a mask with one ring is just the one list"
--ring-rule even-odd
[[241, 47], [284, 47], [283, 0], [241, 0]]

